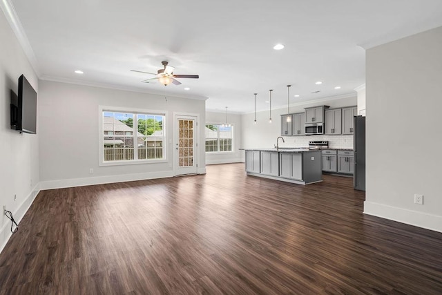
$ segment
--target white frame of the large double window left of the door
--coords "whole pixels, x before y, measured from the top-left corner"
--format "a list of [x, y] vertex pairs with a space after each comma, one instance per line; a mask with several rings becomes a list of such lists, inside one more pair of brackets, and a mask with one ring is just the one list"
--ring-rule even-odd
[[[119, 160], [119, 161], [104, 161], [104, 133], [103, 133], [103, 112], [114, 113], [130, 113], [133, 115], [162, 115], [163, 120], [163, 158], [162, 159], [143, 159], [143, 160]], [[133, 164], [153, 164], [153, 163], [166, 163], [168, 162], [167, 155], [167, 142], [169, 142], [169, 132], [166, 132], [167, 120], [169, 120], [169, 113], [167, 111], [160, 110], [147, 110], [142, 108], [124, 108], [119, 106], [98, 106], [98, 165], [99, 166], [120, 166], [120, 165], [133, 165]], [[137, 120], [133, 120], [133, 137], [134, 137], [134, 155], [137, 156]], [[126, 135], [123, 135], [126, 136]]]

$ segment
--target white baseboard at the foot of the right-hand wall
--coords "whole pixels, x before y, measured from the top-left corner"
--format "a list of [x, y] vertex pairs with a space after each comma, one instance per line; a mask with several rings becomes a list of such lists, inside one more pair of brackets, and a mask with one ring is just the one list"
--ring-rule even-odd
[[442, 216], [367, 201], [364, 202], [364, 213], [442, 232]]

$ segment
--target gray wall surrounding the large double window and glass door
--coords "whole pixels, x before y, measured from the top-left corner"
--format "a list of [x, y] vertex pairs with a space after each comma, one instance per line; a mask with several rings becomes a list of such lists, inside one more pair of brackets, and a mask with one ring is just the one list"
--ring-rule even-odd
[[[167, 162], [99, 166], [99, 106], [166, 111]], [[39, 107], [42, 189], [173, 176], [173, 113], [205, 121], [204, 100], [48, 81], [40, 81]], [[198, 171], [205, 173], [204, 128], [198, 142]]]

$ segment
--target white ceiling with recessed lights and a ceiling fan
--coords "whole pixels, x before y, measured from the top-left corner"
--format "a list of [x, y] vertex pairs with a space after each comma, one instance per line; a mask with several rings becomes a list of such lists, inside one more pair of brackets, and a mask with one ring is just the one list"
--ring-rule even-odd
[[[272, 106], [286, 106], [287, 84], [291, 104], [355, 93], [365, 49], [442, 26], [441, 0], [3, 3], [17, 12], [41, 79], [208, 97], [208, 110], [238, 113], [253, 111], [253, 93], [257, 109], [268, 109], [269, 89]], [[273, 50], [277, 43], [285, 48]], [[130, 71], [156, 73], [162, 60], [200, 79], [144, 84], [151, 76]]]

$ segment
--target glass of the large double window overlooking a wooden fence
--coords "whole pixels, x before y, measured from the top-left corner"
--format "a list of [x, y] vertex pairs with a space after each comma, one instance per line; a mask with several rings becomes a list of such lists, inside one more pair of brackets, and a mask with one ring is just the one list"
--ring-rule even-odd
[[115, 111], [102, 115], [103, 163], [164, 159], [164, 115]]

